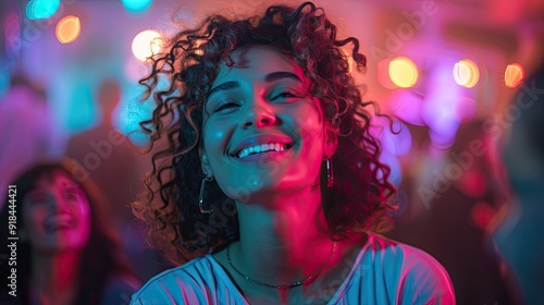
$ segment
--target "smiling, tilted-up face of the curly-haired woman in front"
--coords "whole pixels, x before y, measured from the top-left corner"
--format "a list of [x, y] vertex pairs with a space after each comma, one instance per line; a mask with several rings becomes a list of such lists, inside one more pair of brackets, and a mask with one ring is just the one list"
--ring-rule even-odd
[[243, 203], [319, 186], [337, 139], [302, 69], [268, 47], [232, 57], [236, 64], [221, 65], [205, 105], [203, 171]]

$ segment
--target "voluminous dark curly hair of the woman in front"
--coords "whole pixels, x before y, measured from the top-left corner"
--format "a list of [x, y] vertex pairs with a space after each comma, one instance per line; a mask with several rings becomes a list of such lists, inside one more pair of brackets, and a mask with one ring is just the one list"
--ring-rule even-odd
[[[268, 45], [290, 54], [311, 81], [310, 93], [318, 97], [326, 119], [338, 134], [333, 156], [335, 186], [323, 193], [323, 207], [332, 239], [348, 232], [382, 227], [387, 199], [395, 194], [388, 182], [390, 168], [379, 160], [380, 143], [369, 133], [373, 102], [362, 94], [350, 75], [351, 58], [363, 71], [367, 58], [359, 40], [336, 38], [336, 27], [323, 10], [311, 2], [297, 9], [275, 5], [262, 17], [230, 20], [208, 16], [196, 29], [184, 29], [165, 44], [164, 53], [150, 60], [152, 70], [140, 81], [146, 97], [157, 105], [152, 118], [140, 123], [151, 138], [152, 171], [146, 178], [145, 200], [135, 203], [135, 216], [148, 224], [148, 241], [165, 257], [182, 264], [211, 248], [238, 239], [236, 215], [224, 215], [226, 224], [213, 218], [234, 202], [215, 182], [207, 183], [207, 208], [198, 210], [202, 178], [198, 147], [202, 144], [202, 107], [221, 63], [234, 64], [231, 52], [255, 45]], [[343, 48], [350, 46], [350, 54]], [[170, 87], [159, 89], [166, 77]], [[378, 114], [382, 115], [382, 114]], [[325, 176], [321, 171], [322, 185]], [[160, 198], [159, 198], [160, 197]]]

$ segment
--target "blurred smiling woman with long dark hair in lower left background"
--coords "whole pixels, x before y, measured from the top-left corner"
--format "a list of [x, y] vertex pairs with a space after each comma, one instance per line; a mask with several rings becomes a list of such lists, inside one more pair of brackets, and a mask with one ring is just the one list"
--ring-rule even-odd
[[[121, 251], [92, 181], [77, 182], [73, 162], [42, 162], [12, 184], [0, 213], [0, 304], [126, 304], [139, 281]], [[16, 217], [16, 228], [8, 227]], [[18, 237], [18, 240], [9, 240]], [[13, 269], [14, 268], [14, 269]], [[11, 293], [10, 293], [11, 292]], [[16, 296], [15, 296], [16, 294]]]

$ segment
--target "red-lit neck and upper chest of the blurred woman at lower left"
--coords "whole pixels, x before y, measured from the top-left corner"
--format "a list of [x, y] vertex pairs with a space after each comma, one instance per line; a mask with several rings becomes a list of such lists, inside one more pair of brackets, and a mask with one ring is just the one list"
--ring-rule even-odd
[[34, 253], [32, 288], [45, 304], [73, 304], [79, 285], [81, 252]]

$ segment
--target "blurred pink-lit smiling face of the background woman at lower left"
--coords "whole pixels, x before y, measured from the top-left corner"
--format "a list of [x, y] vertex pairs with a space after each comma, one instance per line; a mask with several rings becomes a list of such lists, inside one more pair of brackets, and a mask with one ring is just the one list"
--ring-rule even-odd
[[82, 187], [58, 171], [42, 176], [23, 198], [25, 233], [34, 251], [57, 253], [84, 247], [90, 235], [89, 203]]

